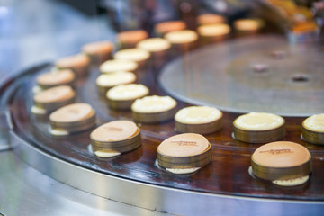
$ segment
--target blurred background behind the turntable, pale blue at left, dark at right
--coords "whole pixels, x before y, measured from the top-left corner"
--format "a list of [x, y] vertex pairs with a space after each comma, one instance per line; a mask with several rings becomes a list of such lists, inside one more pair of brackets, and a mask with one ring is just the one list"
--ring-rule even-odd
[[[261, 17], [268, 31], [285, 33], [296, 23], [323, 23], [323, 2], [314, 0], [0, 0], [0, 76], [79, 51], [87, 42], [114, 40], [117, 31], [221, 14], [229, 24]], [[309, 25], [308, 25], [309, 26]], [[307, 25], [301, 28], [309, 28]]]

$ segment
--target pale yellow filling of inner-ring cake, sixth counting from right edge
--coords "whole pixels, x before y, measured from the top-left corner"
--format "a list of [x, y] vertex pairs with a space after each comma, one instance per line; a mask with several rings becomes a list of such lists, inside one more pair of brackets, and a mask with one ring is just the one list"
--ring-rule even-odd
[[109, 74], [102, 74], [96, 79], [96, 84], [103, 87], [111, 87], [121, 84], [133, 83], [136, 75], [127, 71], [118, 71]]

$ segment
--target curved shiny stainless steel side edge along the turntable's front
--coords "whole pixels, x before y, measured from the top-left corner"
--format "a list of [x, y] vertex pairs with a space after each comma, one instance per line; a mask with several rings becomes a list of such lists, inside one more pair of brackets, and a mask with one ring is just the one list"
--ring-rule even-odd
[[[76, 189], [135, 207], [175, 215], [320, 215], [324, 202], [195, 193], [103, 175], [52, 157], [10, 131], [14, 153], [41, 173]], [[140, 174], [139, 175], [143, 175]]]

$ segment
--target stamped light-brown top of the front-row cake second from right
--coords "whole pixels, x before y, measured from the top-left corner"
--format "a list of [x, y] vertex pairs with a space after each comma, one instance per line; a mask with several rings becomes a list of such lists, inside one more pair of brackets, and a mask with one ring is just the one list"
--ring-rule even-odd
[[202, 154], [209, 146], [210, 142], [202, 135], [183, 133], [165, 139], [157, 152], [170, 157], [191, 157]]

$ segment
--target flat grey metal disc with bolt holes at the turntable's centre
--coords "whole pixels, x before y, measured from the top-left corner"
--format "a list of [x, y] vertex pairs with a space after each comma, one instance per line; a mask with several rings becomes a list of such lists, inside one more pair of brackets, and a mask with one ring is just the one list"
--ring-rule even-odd
[[[319, 44], [319, 43], [318, 43]], [[283, 58], [273, 53], [284, 52]], [[198, 49], [167, 65], [159, 77], [167, 93], [188, 103], [229, 112], [309, 116], [322, 112], [324, 52], [279, 36], [229, 40]], [[267, 70], [257, 73], [256, 65]], [[307, 79], [296, 81], [296, 74]]]

